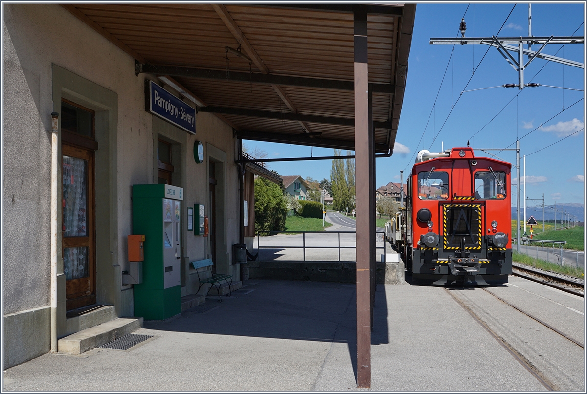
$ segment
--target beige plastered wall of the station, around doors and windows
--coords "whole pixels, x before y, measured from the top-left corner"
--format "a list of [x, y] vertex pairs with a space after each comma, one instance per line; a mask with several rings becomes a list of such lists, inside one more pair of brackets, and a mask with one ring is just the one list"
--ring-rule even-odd
[[[90, 81], [117, 96], [117, 108], [102, 108], [96, 116], [116, 113], [110, 133], [108, 152], [111, 155], [109, 179], [112, 187], [96, 190], [96, 201], [107, 201], [110, 228], [106, 229], [102, 261], [112, 266], [97, 287], [106, 292], [102, 301], [116, 305], [119, 315], [132, 314], [132, 297], [122, 286], [120, 272], [127, 268], [126, 236], [132, 233], [133, 184], [156, 181], [156, 152], [154, 133], [160, 120], [144, 111], [145, 76], [134, 74], [134, 59], [102, 35], [56, 4], [4, 4], [4, 321], [11, 314], [11, 328], [18, 331], [18, 317], [50, 303], [50, 113], [55, 97], [52, 69], [58, 66], [80, 79]], [[153, 77], [149, 77], [153, 78]], [[154, 78], [153, 78], [154, 79]], [[62, 97], [75, 98], [76, 91], [65, 91]], [[69, 95], [69, 96], [68, 96]], [[87, 97], [86, 97], [87, 98]], [[100, 104], [96, 99], [96, 106]], [[106, 102], [106, 101], [104, 101]], [[111, 118], [112, 119], [112, 118]], [[108, 123], [108, 120], [104, 120]], [[185, 206], [205, 203], [210, 206], [208, 193], [208, 152], [206, 161], [196, 164], [193, 159], [194, 141], [203, 141], [225, 153], [223, 224], [227, 229], [224, 243], [226, 254], [222, 271], [235, 274], [238, 266], [230, 264], [231, 246], [238, 242], [238, 179], [235, 159], [235, 139], [230, 126], [212, 114], [197, 115], [197, 135], [188, 135], [174, 128], [173, 138], [180, 143], [183, 162]], [[169, 129], [169, 128], [168, 128]], [[112, 134], [111, 134], [112, 135]], [[170, 137], [171, 138], [171, 137]], [[187, 221], [186, 209], [183, 212]], [[194, 236], [184, 227], [184, 256], [191, 260], [208, 257], [209, 240]], [[106, 250], [107, 249], [107, 250]], [[109, 256], [109, 257], [108, 257]], [[189, 277], [188, 264], [185, 265]], [[100, 276], [98, 276], [100, 278]], [[107, 289], [107, 290], [104, 290]], [[187, 293], [192, 293], [187, 281]], [[32, 313], [32, 312], [31, 312]], [[29, 319], [36, 335], [49, 335], [48, 322], [43, 318]], [[64, 314], [63, 314], [64, 315]], [[43, 320], [45, 319], [45, 320]], [[31, 324], [30, 321], [38, 322]], [[36, 325], [38, 327], [32, 327]], [[9, 333], [8, 333], [9, 334]], [[6, 336], [4, 341], [15, 337]], [[30, 341], [29, 341], [30, 342]], [[5, 362], [5, 368], [48, 351], [48, 342], [38, 341], [42, 348], [22, 343], [21, 355]], [[18, 346], [12, 345], [11, 351]], [[46, 348], [46, 349], [45, 349]], [[42, 354], [42, 353], [41, 353]]]

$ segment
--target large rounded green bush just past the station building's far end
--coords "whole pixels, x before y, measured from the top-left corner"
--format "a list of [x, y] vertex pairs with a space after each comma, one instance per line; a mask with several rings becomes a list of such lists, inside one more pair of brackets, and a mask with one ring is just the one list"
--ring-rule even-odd
[[287, 212], [283, 186], [261, 177], [255, 179], [255, 232], [283, 231]]

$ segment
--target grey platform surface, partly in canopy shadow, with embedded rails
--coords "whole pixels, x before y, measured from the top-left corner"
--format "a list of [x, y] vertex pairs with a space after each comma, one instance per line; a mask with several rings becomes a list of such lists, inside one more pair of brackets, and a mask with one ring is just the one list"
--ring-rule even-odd
[[[547, 314], [561, 313], [561, 330], [584, 332], [581, 299], [519, 278], [511, 284], [488, 290], [535, 314], [551, 308]], [[155, 338], [127, 351], [45, 354], [14, 366], [3, 374], [4, 390], [357, 390], [353, 284], [249, 280], [222, 299], [208, 298], [168, 321], [144, 322], [135, 334]], [[578, 345], [522, 318], [481, 288], [407, 282], [378, 286], [371, 389], [546, 390], [463, 305], [527, 358], [552, 388], [585, 391]]]

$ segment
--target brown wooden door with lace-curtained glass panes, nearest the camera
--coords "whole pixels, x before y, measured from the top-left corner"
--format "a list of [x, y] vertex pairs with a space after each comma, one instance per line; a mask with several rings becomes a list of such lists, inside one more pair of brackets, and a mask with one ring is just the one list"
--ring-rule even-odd
[[94, 151], [62, 145], [63, 273], [67, 310], [96, 303]]

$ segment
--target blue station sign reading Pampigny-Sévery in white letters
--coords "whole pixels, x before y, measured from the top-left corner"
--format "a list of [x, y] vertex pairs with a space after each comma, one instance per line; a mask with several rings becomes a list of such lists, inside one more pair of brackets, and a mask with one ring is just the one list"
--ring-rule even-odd
[[195, 108], [181, 101], [163, 87], [148, 81], [146, 111], [195, 134]]

